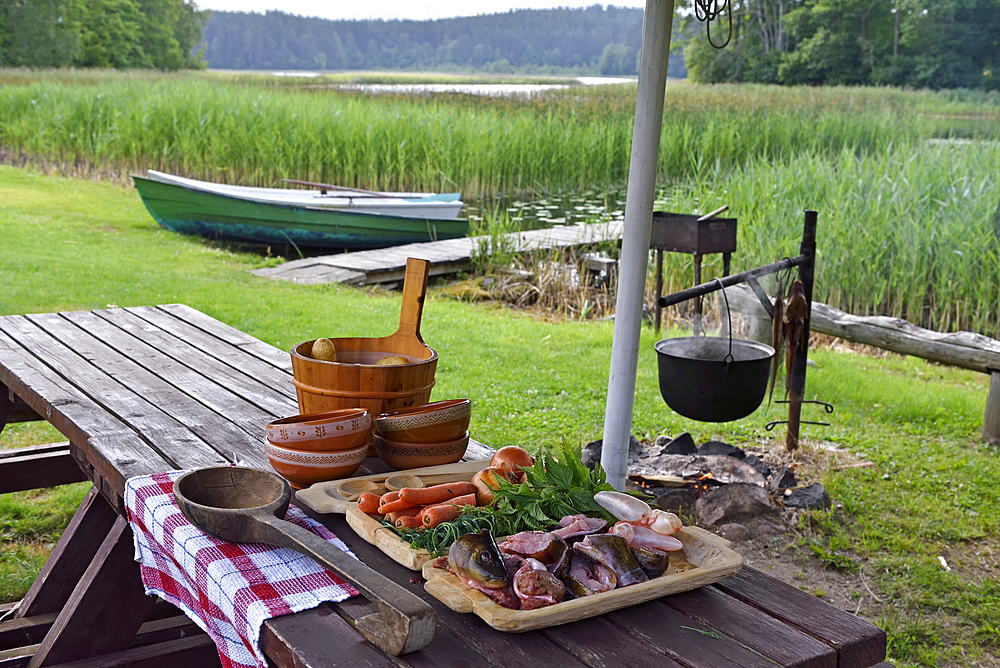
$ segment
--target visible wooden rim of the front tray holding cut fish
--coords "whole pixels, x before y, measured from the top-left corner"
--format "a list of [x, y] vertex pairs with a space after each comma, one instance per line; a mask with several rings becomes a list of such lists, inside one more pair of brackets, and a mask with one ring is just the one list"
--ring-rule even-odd
[[684, 543], [684, 549], [674, 554], [693, 568], [671, 573], [675, 568], [672, 554], [671, 567], [658, 578], [537, 610], [505, 608], [467, 586], [451, 572], [435, 567], [433, 561], [423, 566], [423, 576], [427, 580], [424, 589], [456, 612], [475, 613], [498, 631], [521, 633], [596, 617], [668, 594], [696, 589], [727, 578], [743, 566], [743, 556], [731, 550], [725, 538], [700, 527], [684, 527], [675, 535]]

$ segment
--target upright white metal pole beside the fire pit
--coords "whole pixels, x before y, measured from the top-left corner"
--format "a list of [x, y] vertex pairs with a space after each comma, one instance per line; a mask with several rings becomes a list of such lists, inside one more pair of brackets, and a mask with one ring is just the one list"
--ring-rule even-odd
[[619, 490], [625, 487], [628, 441], [632, 428], [639, 334], [642, 330], [642, 305], [646, 292], [646, 265], [649, 262], [649, 233], [653, 225], [656, 166], [660, 154], [663, 96], [673, 14], [674, 0], [646, 0], [601, 452], [601, 466], [607, 473], [608, 482]]

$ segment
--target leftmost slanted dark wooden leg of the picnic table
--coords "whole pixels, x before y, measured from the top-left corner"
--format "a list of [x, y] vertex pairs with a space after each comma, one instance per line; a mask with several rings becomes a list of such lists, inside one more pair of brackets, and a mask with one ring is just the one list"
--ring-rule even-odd
[[91, 487], [17, 609], [18, 617], [59, 612], [101, 547], [118, 514]]

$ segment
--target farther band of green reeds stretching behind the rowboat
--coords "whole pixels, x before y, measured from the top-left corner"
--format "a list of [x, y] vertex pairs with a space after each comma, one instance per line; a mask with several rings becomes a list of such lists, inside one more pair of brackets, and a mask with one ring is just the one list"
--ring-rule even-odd
[[[108, 76], [24, 83], [0, 72], [0, 146], [97, 170], [467, 197], [615, 184], [628, 172], [634, 86], [574, 86], [529, 99], [374, 97], [256, 77]], [[672, 85], [664, 119], [668, 178], [755, 156], [881, 151], [920, 135], [905, 105], [854, 89]]]

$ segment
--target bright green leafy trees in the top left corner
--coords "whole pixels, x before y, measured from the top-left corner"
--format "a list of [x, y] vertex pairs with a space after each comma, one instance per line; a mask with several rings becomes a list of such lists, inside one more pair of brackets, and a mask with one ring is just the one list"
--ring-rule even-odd
[[0, 67], [204, 67], [189, 0], [0, 0]]

